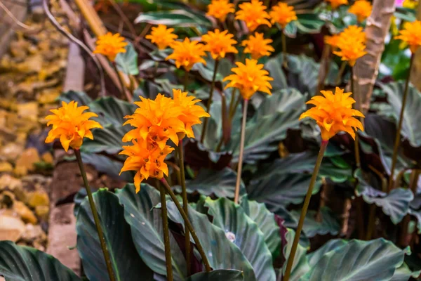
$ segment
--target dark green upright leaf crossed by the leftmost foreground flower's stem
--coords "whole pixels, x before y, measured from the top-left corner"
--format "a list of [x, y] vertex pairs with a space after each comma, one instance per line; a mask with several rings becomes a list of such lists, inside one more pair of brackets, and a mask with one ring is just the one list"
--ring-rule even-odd
[[[116, 280], [135, 280], [140, 275], [145, 280], [153, 280], [152, 270], [140, 259], [134, 247], [131, 229], [124, 221], [124, 211], [118, 197], [112, 192], [101, 189], [93, 194], [93, 200], [100, 217]], [[89, 280], [108, 280], [107, 266], [88, 198], [85, 198], [79, 207], [76, 232], [77, 249], [82, 259], [83, 270]]]

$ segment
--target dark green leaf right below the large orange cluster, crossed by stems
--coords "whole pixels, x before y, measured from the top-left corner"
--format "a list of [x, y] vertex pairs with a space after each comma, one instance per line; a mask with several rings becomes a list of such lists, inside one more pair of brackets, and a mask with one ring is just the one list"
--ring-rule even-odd
[[[131, 227], [138, 254], [154, 272], [166, 275], [161, 210], [154, 208], [161, 202], [159, 192], [142, 183], [138, 193], [135, 193], [134, 185], [128, 184], [116, 194], [124, 207], [124, 218]], [[170, 235], [170, 242], [174, 279], [184, 280], [187, 276], [185, 257], [173, 235]]]

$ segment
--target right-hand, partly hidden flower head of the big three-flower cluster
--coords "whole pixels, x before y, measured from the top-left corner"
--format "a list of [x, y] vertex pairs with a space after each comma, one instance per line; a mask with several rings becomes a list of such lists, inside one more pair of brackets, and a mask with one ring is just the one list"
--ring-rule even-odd
[[194, 138], [192, 126], [201, 124], [201, 117], [210, 117], [203, 110], [203, 107], [196, 105], [201, 100], [194, 99], [194, 96], [187, 96], [187, 92], [173, 89], [174, 103], [181, 108], [181, 115], [178, 117], [185, 124], [185, 133], [188, 138]]

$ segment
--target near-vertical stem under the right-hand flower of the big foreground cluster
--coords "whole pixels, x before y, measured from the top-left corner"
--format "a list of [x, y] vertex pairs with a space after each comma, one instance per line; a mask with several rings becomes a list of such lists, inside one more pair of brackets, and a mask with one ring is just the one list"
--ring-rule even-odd
[[[178, 166], [180, 166], [180, 185], [181, 185], [181, 190], [182, 190], [181, 191], [182, 207], [188, 217], [189, 216], [189, 201], [187, 200], [184, 151], [182, 147], [182, 140], [180, 140], [180, 142], [178, 143]], [[187, 276], [190, 276], [192, 274], [192, 261], [191, 261], [192, 248], [190, 247], [190, 232], [187, 228], [185, 230], [185, 244], [186, 244]]]

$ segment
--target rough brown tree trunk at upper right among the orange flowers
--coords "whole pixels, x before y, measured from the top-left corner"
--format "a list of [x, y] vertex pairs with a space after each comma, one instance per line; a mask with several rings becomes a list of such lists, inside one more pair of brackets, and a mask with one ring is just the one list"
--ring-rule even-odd
[[355, 73], [358, 77], [358, 91], [361, 95], [362, 110], [367, 112], [370, 107], [370, 98], [380, 65], [380, 58], [385, 50], [385, 37], [389, 33], [390, 18], [395, 10], [395, 0], [373, 1], [373, 12], [367, 18], [367, 54], [356, 63]]

